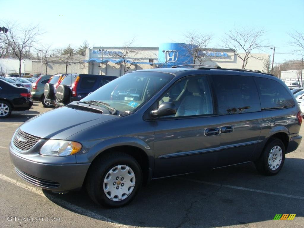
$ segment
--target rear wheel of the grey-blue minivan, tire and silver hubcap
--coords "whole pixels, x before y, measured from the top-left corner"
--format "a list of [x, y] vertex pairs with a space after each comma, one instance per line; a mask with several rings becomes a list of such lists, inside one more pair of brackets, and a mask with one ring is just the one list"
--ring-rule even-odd
[[257, 171], [272, 176], [278, 174], [285, 161], [285, 146], [278, 138], [272, 138], [264, 147], [261, 157], [255, 162]]

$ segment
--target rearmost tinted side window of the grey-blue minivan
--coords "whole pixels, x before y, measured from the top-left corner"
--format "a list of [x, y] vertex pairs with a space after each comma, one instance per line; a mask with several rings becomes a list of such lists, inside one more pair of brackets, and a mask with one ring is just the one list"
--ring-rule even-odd
[[268, 78], [255, 78], [261, 99], [262, 109], [289, 108], [295, 105], [283, 85]]

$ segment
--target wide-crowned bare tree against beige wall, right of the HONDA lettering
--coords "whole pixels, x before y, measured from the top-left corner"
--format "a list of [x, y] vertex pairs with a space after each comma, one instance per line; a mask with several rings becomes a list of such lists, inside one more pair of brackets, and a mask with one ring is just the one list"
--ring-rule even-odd
[[[228, 33], [225, 33], [226, 36], [222, 39], [222, 42], [225, 48], [235, 50], [237, 57], [243, 62], [242, 69], [245, 69], [250, 58], [259, 59], [251, 54], [252, 51], [269, 47], [269, 45], [266, 44], [266, 40], [263, 40], [265, 33], [263, 29], [234, 28]], [[240, 55], [238, 53], [239, 51], [244, 52], [244, 55]]]

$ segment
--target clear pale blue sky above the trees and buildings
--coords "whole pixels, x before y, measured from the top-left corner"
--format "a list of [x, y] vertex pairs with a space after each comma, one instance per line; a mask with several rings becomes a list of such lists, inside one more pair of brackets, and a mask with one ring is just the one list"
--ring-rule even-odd
[[[288, 33], [304, 33], [304, 0], [0, 0], [0, 5], [0, 21], [39, 24], [44, 31], [39, 42], [53, 48], [69, 43], [77, 48], [84, 40], [90, 47], [115, 47], [133, 37], [134, 46], [158, 47], [184, 42], [189, 31], [213, 34], [210, 47], [221, 48], [221, 37], [242, 26], [264, 29], [276, 53], [294, 53], [275, 55], [275, 64], [302, 57]], [[270, 48], [259, 52], [272, 55]]]

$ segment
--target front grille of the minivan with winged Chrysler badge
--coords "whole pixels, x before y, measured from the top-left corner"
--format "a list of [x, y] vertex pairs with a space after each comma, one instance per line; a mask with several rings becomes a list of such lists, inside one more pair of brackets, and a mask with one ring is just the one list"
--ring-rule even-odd
[[14, 145], [19, 150], [29, 150], [31, 149], [38, 141], [40, 140], [39, 137], [30, 135], [28, 133], [25, 133], [24, 131], [18, 129], [14, 136]]

